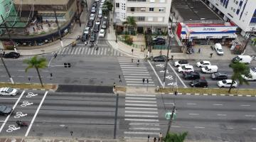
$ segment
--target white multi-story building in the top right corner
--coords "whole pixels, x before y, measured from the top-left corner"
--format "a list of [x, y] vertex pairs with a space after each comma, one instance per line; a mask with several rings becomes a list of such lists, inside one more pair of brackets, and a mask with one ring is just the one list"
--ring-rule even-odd
[[225, 21], [233, 21], [241, 35], [256, 32], [256, 0], [205, 0]]

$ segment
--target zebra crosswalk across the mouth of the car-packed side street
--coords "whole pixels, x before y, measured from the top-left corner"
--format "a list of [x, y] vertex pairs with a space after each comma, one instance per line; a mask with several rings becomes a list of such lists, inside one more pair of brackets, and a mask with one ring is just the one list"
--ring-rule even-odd
[[75, 47], [65, 47], [61, 48], [60, 50], [57, 50], [55, 52], [52, 52], [51, 54], [57, 53], [58, 55], [106, 55], [106, 56], [114, 56], [114, 57], [120, 57], [123, 56], [122, 53], [120, 53], [118, 50], [114, 50], [111, 47], [108, 46], [99, 46], [98, 50], [96, 48], [90, 48], [87, 46], [75, 46]]

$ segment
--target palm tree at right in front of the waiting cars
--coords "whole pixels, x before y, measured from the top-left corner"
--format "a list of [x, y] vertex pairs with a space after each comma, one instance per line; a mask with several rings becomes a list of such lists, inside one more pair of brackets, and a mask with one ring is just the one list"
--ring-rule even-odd
[[233, 69], [233, 75], [231, 77], [232, 83], [230, 85], [230, 89], [228, 90], [229, 93], [231, 91], [231, 88], [233, 87], [235, 80], [238, 80], [239, 84], [249, 84], [248, 81], [242, 77], [242, 75], [250, 77], [250, 67], [248, 67], [248, 65], [245, 65], [245, 63], [235, 61], [230, 64], [230, 67]]

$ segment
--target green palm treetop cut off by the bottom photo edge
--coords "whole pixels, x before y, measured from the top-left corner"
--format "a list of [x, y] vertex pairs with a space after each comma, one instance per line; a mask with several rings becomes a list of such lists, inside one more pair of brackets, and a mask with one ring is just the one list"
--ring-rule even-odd
[[166, 138], [164, 138], [165, 142], [183, 142], [185, 141], [186, 136], [188, 136], [188, 132], [183, 133], [168, 133]]

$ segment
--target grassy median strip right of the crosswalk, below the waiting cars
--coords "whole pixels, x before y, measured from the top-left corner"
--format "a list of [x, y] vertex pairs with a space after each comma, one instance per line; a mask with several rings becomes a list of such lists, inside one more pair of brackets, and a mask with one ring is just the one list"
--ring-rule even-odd
[[[164, 93], [174, 93], [176, 91], [176, 88], [160, 88], [158, 92], [164, 92]], [[157, 92], [157, 91], [156, 91]], [[231, 92], [228, 93], [228, 88], [178, 88], [178, 93], [186, 94], [250, 94], [250, 95], [256, 95], [256, 89], [231, 89]]]

